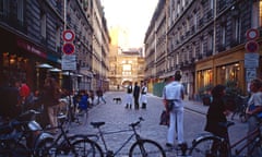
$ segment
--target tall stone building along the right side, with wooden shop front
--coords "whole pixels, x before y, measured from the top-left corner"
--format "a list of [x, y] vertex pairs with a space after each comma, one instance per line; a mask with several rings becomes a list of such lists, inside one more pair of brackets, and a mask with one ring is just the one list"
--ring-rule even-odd
[[[259, 0], [167, 0], [164, 9], [167, 67], [162, 70], [157, 64], [153, 67], [157, 74], [155, 76], [166, 77], [176, 70], [181, 70], [189, 98], [195, 98], [201, 87], [228, 81], [235, 81], [240, 88], [247, 90], [252, 77], [249, 73], [254, 73], [253, 77], [261, 77], [260, 65], [249, 69], [245, 64], [245, 56], [248, 53], [245, 47], [248, 41], [246, 34], [254, 28], [260, 35], [261, 8]], [[165, 11], [156, 10], [153, 19], [162, 19], [160, 14]], [[155, 20], [151, 25], [159, 26]], [[148, 32], [153, 31], [150, 26]], [[148, 36], [150, 33], [145, 39]], [[155, 40], [159, 38], [160, 36], [155, 36]], [[151, 43], [148, 39], [145, 41]], [[261, 45], [261, 37], [254, 41]], [[153, 51], [162, 53], [157, 48]], [[261, 56], [261, 48], [253, 53]], [[259, 64], [260, 58], [257, 59]], [[156, 61], [150, 57], [145, 60], [148, 67], [146, 70], [153, 71], [150, 64]], [[164, 73], [160, 74], [159, 71]], [[146, 73], [146, 78], [150, 77], [152, 76]]]

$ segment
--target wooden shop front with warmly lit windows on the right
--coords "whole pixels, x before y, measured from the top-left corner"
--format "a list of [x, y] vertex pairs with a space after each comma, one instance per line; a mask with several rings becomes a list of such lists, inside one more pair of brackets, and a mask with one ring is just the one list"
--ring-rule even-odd
[[[246, 90], [245, 49], [231, 49], [195, 63], [195, 94], [210, 94], [212, 86], [235, 82]], [[204, 92], [203, 92], [204, 89]]]

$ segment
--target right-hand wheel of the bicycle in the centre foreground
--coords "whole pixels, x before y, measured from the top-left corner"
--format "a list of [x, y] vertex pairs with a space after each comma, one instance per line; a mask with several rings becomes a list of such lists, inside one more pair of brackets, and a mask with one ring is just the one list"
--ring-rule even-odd
[[140, 140], [131, 146], [129, 157], [166, 157], [166, 153], [158, 143]]

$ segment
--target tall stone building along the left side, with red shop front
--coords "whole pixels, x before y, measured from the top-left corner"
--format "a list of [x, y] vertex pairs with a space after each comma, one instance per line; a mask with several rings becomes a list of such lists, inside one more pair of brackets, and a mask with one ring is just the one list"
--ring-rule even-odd
[[[43, 86], [46, 74], [50, 73], [59, 80], [63, 88], [94, 89], [95, 85], [92, 83], [98, 82], [96, 74], [106, 77], [108, 71], [106, 58], [102, 59], [102, 55], [98, 56], [98, 51], [93, 47], [94, 36], [102, 32], [99, 53], [106, 57], [109, 50], [103, 7], [99, 4], [94, 10], [94, 5], [99, 2], [99, 0], [1, 0], [0, 84], [14, 78], [26, 80], [35, 90]], [[100, 24], [94, 25], [97, 23], [94, 22], [94, 14], [97, 13], [100, 16]], [[76, 58], [76, 69], [70, 73], [61, 71], [64, 29], [74, 33], [71, 44], [74, 46], [72, 55]], [[93, 62], [97, 58], [99, 62], [104, 62], [102, 69], [97, 69], [97, 63]], [[56, 69], [52, 71], [50, 68]]]

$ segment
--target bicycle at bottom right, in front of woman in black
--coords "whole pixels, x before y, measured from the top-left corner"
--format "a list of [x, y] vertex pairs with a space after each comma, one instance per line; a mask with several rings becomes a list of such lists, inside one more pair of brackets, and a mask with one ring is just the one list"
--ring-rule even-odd
[[[210, 133], [201, 135], [192, 142], [189, 155], [192, 157], [231, 157], [242, 155], [248, 146], [251, 147], [246, 154], [248, 156], [252, 156], [254, 149], [260, 149], [262, 152], [262, 120], [259, 118], [257, 119], [257, 129], [233, 144], [230, 143], [229, 135], [227, 138], [218, 137]], [[228, 129], [235, 123], [228, 121], [221, 124]], [[237, 146], [239, 146], [239, 148], [237, 148]]]

